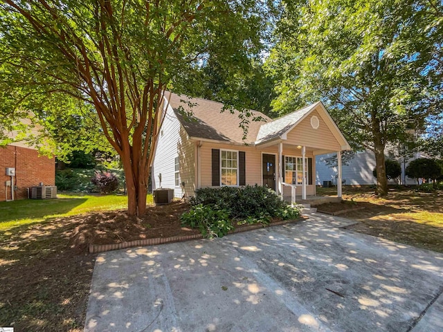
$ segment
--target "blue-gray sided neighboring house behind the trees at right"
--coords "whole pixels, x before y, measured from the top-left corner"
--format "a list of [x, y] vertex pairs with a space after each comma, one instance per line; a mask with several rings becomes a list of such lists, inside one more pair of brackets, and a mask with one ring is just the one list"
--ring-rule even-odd
[[[329, 166], [325, 163], [325, 159], [333, 156], [333, 154], [325, 154], [316, 156], [316, 184], [323, 185], [324, 181], [331, 181], [333, 185], [337, 183], [338, 167]], [[417, 180], [409, 178], [404, 174], [410, 160], [421, 158], [419, 152], [410, 157], [397, 156], [391, 149], [386, 154], [386, 158], [397, 160], [401, 166], [401, 176], [397, 180], [391, 180], [391, 184], [415, 185]], [[354, 157], [342, 167], [342, 181], [344, 185], [374, 185], [377, 178], [372, 174], [375, 168], [374, 152], [365, 150], [357, 152]]]

